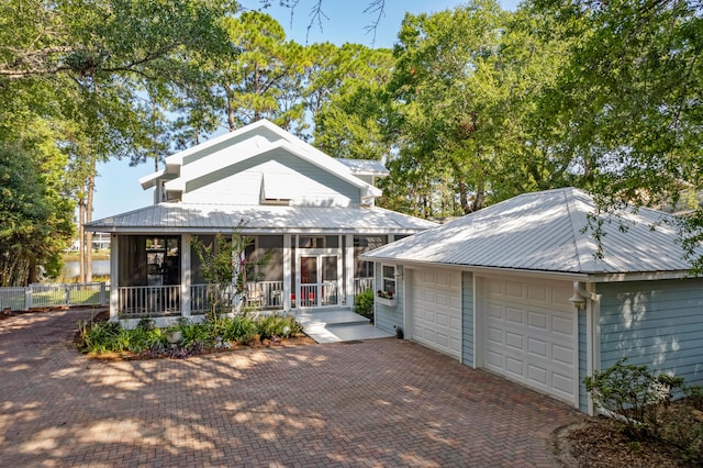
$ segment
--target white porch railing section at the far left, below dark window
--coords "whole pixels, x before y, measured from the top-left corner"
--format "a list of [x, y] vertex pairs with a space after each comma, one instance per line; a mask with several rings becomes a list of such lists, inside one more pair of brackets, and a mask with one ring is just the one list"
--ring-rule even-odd
[[180, 314], [180, 286], [129, 286], [118, 288], [121, 316]]

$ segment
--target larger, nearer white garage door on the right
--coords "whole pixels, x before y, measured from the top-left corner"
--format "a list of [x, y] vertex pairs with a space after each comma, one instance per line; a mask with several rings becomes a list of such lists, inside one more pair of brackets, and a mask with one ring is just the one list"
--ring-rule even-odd
[[483, 366], [576, 403], [578, 314], [568, 281], [483, 278]]

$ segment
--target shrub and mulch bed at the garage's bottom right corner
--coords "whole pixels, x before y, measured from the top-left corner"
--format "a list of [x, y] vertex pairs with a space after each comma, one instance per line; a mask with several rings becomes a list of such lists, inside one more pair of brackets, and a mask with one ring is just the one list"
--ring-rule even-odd
[[703, 388], [626, 359], [584, 385], [609, 416], [557, 434], [562, 466], [703, 466]]

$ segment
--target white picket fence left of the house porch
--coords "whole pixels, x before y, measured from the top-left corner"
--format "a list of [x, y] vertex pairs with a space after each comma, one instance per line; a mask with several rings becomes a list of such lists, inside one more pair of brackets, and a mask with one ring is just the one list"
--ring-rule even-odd
[[0, 310], [104, 305], [109, 300], [108, 288], [104, 282], [33, 283], [26, 288], [0, 288]]

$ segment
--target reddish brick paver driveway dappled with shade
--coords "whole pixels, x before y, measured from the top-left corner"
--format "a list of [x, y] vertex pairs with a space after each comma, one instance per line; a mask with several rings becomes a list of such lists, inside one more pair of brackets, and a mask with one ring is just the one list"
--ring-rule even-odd
[[395, 338], [98, 361], [87, 316], [0, 321], [1, 466], [551, 466], [580, 419]]

